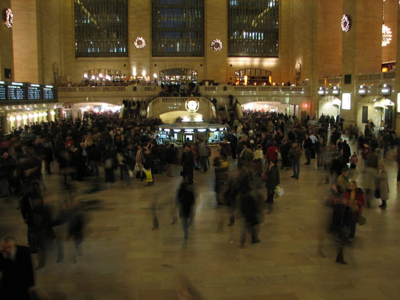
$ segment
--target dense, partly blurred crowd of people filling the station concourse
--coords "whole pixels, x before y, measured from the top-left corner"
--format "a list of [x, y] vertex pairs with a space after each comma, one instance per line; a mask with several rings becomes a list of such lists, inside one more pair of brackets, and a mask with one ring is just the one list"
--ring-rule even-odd
[[[135, 112], [141, 106], [139, 102], [130, 105]], [[354, 241], [356, 224], [362, 218], [363, 209], [371, 206], [373, 197], [381, 199], [381, 209], [387, 208], [389, 189], [384, 159], [388, 148], [394, 147], [397, 140], [391, 128], [371, 134], [371, 122], [365, 125], [364, 133], [356, 131], [353, 125], [348, 134], [349, 140], [354, 138], [357, 141], [357, 151], [352, 153], [344, 135], [344, 120], [340, 116], [330, 125], [332, 117], [322, 115], [319, 125], [313, 126], [308, 116], [298, 120], [282, 113], [247, 111], [243, 119], [237, 120], [237, 125], [232, 121], [213, 157], [207, 141], [200, 138], [185, 141], [179, 156], [174, 144], [160, 142], [157, 131], [160, 119], [143, 118], [136, 113], [133, 116], [135, 118], [121, 119], [118, 114], [110, 112], [86, 112], [82, 120], [31, 123], [30, 126], [15, 128], [11, 138], [3, 138], [1, 197], [12, 193], [22, 197], [18, 209], [28, 225], [31, 253], [44, 252], [44, 236], [52, 236], [54, 228], [65, 222], [69, 224], [69, 233], [74, 236], [77, 257], [81, 252], [84, 221], [73, 197], [66, 201], [56, 218], [47, 217], [43, 210], [44, 199], [40, 192], [45, 188], [41, 178], [43, 163], [49, 176], [56, 172], [61, 175], [66, 190], [71, 180], [90, 181], [90, 178], [99, 178], [102, 170], [108, 188], [113, 188], [117, 180], [116, 170], [120, 171], [119, 179], [127, 189], [131, 187], [132, 177], [151, 187], [155, 185], [156, 174], [167, 171], [167, 176], [174, 176], [174, 165], [181, 165], [183, 183], [177, 193], [177, 203], [185, 239], [188, 238], [196, 198], [192, 188], [195, 185], [194, 171], [207, 173], [213, 166], [216, 203], [227, 207], [229, 226], [235, 224], [237, 212], [243, 217], [242, 247], [245, 246], [247, 231], [251, 232], [252, 243], [260, 242], [259, 225], [264, 220], [263, 211], [273, 211], [275, 191], [282, 182], [280, 170], [291, 168], [293, 179], [299, 178], [301, 169], [307, 173], [308, 167], [303, 171], [300, 166], [303, 155], [305, 165], [311, 165], [316, 159], [317, 169], [325, 174], [325, 183], [332, 184], [332, 228], [340, 243]], [[352, 170], [360, 169], [359, 155], [364, 161], [362, 187], [351, 178]], [[213, 160], [210, 162], [210, 159]], [[398, 147], [396, 160], [400, 166]], [[54, 170], [53, 161], [58, 163], [58, 170]], [[235, 161], [237, 170], [230, 170], [230, 163]], [[99, 168], [101, 165], [103, 168]], [[260, 179], [257, 178], [265, 182], [265, 197], [260, 194]], [[397, 180], [400, 180], [400, 173]], [[157, 229], [158, 223], [155, 222], [153, 228]], [[7, 249], [12, 242], [11, 238], [2, 241], [4, 259], [10, 256]], [[63, 259], [62, 248], [60, 245], [60, 261]], [[37, 267], [44, 267], [44, 257], [39, 256], [38, 261]], [[342, 252], [336, 261], [345, 264]], [[2, 261], [0, 267], [3, 267]]]

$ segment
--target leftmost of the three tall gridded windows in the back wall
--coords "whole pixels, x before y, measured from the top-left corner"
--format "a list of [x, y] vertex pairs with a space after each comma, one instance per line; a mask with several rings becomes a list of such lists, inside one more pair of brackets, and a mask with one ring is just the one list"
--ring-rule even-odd
[[128, 56], [128, 0], [75, 0], [75, 57]]

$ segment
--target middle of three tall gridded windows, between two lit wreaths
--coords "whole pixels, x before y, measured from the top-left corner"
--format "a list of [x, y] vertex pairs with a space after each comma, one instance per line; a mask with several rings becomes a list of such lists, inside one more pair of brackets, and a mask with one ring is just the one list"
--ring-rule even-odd
[[205, 0], [152, 1], [154, 57], [204, 56]]

